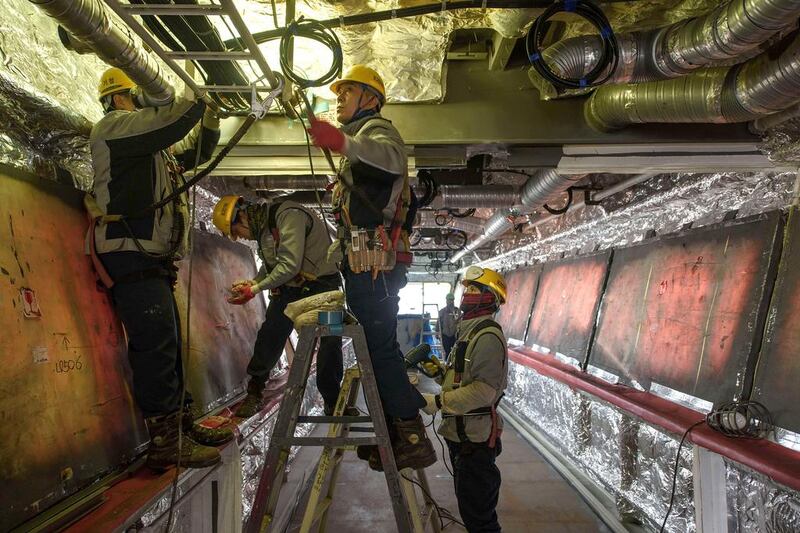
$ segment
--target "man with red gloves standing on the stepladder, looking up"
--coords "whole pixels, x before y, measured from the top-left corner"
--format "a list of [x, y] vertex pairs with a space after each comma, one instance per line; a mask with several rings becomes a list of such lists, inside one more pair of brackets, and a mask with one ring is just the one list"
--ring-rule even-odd
[[[386, 88], [375, 70], [355, 65], [331, 90], [341, 127], [312, 121], [309, 129], [316, 146], [342, 155], [333, 190], [339, 239], [331, 254], [343, 263], [347, 303], [364, 328], [397, 467], [425, 468], [436, 462], [419, 416], [425, 400], [408, 382], [397, 344], [398, 293], [411, 263], [415, 214], [405, 143], [380, 114]], [[382, 468], [376, 446], [359, 446], [358, 456]]]

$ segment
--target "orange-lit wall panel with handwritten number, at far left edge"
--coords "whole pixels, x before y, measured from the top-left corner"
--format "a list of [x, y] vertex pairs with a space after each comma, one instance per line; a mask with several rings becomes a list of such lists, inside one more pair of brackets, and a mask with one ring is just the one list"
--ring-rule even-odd
[[0, 530], [133, 458], [147, 432], [78, 191], [0, 167]]

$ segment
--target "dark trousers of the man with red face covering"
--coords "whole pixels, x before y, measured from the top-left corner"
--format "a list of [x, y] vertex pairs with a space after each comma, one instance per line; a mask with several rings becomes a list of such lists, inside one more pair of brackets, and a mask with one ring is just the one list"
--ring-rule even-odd
[[458, 512], [469, 533], [500, 531], [497, 499], [500, 496], [500, 470], [495, 458], [500, 455], [500, 439], [494, 448], [485, 443], [453, 442], [445, 439], [453, 465]]

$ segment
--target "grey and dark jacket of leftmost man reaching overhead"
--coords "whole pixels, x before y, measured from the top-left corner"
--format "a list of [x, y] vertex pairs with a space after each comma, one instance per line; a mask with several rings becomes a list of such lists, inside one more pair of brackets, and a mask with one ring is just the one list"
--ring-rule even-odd
[[[89, 143], [97, 206], [107, 215], [135, 216], [128, 219], [128, 226], [148, 252], [164, 253], [175, 240], [181, 243], [178, 256], [186, 250], [190, 222], [185, 194], [161, 209], [136, 215], [183, 183], [178, 170], [194, 167], [197, 150], [200, 163], [210, 158], [219, 141], [219, 123], [204, 119], [202, 146], [196, 146], [200, 126], [195, 126], [204, 110], [202, 101], [176, 98], [162, 107], [111, 111], [92, 128]], [[184, 231], [176, 239], [177, 216], [184, 219]], [[98, 224], [95, 246], [101, 254], [138, 250], [119, 222]]]

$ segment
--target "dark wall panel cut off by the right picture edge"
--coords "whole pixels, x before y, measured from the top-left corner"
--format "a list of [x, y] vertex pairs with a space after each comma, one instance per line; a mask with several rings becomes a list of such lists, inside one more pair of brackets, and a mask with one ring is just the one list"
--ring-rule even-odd
[[775, 423], [800, 433], [800, 213], [789, 214], [778, 278], [756, 369], [752, 398]]

